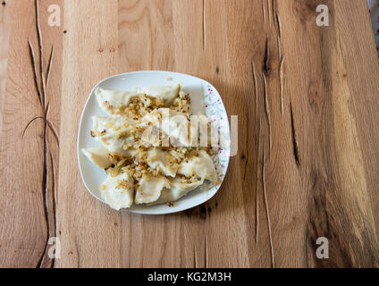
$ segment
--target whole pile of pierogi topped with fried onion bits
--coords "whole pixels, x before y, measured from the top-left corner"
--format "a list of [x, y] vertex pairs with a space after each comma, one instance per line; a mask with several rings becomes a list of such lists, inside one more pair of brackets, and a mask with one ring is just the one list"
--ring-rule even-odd
[[[208, 130], [206, 144], [197, 123], [190, 124], [190, 97], [181, 85], [139, 88], [136, 92], [95, 91], [106, 116], [93, 116], [98, 147], [82, 149], [106, 172], [99, 186], [106, 204], [120, 210], [136, 205], [167, 204], [206, 181], [219, 184]], [[205, 122], [201, 115], [199, 122]], [[202, 129], [200, 128], [200, 132]], [[202, 137], [203, 139], [203, 137]]]

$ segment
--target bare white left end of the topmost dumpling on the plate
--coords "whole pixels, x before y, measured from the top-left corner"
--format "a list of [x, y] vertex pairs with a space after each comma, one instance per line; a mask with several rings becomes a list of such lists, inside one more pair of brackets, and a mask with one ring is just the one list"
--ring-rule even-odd
[[97, 88], [95, 91], [98, 105], [109, 116], [118, 114], [118, 109], [130, 105], [131, 99], [141, 97], [142, 94], [128, 91], [106, 90]]

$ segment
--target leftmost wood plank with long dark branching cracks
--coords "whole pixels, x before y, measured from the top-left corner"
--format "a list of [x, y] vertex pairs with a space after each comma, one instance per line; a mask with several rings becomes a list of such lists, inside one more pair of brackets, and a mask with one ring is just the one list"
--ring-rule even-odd
[[[40, 5], [40, 28], [44, 37], [43, 46], [45, 75], [50, 55], [50, 46], [55, 43], [55, 58], [51, 69], [51, 80], [46, 89], [46, 103], [50, 102], [48, 120], [59, 131], [60, 118], [60, 76], [62, 67], [62, 30], [50, 27], [47, 23], [47, 7], [50, 4], [62, 4], [62, 1], [45, 1]], [[34, 1], [7, 1], [1, 6], [2, 14], [23, 15], [5, 18], [9, 32], [4, 30], [5, 46], [2, 56], [7, 58], [2, 69], [7, 68], [4, 96], [2, 94], [0, 157], [1, 172], [1, 262], [0, 265], [12, 267], [51, 266], [53, 260], [46, 257], [46, 244], [55, 236], [55, 212], [53, 204], [54, 174], [51, 158], [57, 170], [56, 139], [48, 131], [46, 135], [46, 167], [44, 174], [44, 123], [41, 119], [32, 122], [22, 138], [28, 123], [43, 115], [38, 93], [34, 85], [33, 66], [29, 56], [28, 39], [39, 63], [38, 37]], [[32, 27], [32, 29], [30, 29]], [[9, 34], [9, 45], [6, 40]], [[3, 54], [4, 53], [4, 54]], [[6, 60], [8, 65], [6, 66]], [[39, 65], [37, 65], [39, 75]], [[58, 77], [57, 77], [58, 76]], [[51, 155], [50, 155], [51, 152]], [[46, 181], [46, 183], [45, 183]], [[46, 188], [45, 188], [46, 185]], [[46, 202], [45, 202], [46, 200]]]

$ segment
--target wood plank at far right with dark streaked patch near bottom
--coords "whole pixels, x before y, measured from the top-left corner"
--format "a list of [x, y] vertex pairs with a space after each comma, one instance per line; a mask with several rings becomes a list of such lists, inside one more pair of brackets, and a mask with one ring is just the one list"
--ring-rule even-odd
[[[285, 68], [289, 69], [289, 63], [298, 63], [291, 64], [293, 76], [288, 70], [285, 73], [288, 85], [284, 89], [289, 90], [298, 139], [301, 181], [297, 192], [307, 194], [304, 238], [309, 249], [314, 248], [318, 237], [328, 238], [331, 253], [327, 261], [307, 257], [305, 262], [318, 266], [377, 266], [376, 206], [373, 207], [377, 201], [370, 200], [375, 187], [366, 183], [366, 178], [375, 174], [377, 164], [376, 158], [363, 161], [365, 153], [375, 149], [376, 128], [371, 129], [369, 139], [359, 139], [362, 129], [369, 130], [362, 128], [363, 122], [376, 122], [377, 113], [356, 104], [358, 98], [364, 97], [366, 104], [372, 102], [374, 109], [378, 107], [377, 60], [374, 64], [357, 64], [356, 59], [362, 58], [364, 52], [355, 49], [348, 56], [343, 47], [354, 48], [360, 38], [358, 30], [367, 29], [368, 21], [362, 21], [367, 16], [366, 3], [327, 2], [335, 16], [331, 17], [330, 27], [323, 29], [315, 28], [308, 20], [316, 4], [293, 2], [292, 9], [291, 5], [280, 5], [287, 9], [283, 13], [286, 16], [291, 11], [299, 12], [299, 17], [282, 20], [282, 38], [283, 46], [293, 47]], [[357, 38], [346, 32], [347, 27], [352, 28], [350, 21], [354, 22]], [[291, 29], [296, 33], [289, 32]], [[369, 48], [372, 37], [368, 29], [366, 32]], [[352, 90], [355, 78], [363, 80], [364, 76], [370, 82], [367, 80], [359, 91]]]

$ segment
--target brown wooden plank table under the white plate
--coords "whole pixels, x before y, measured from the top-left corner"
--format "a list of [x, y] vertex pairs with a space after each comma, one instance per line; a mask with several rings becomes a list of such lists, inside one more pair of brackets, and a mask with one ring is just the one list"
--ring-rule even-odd
[[[60, 27], [48, 24], [51, 4]], [[318, 4], [329, 27], [316, 25]], [[379, 265], [379, 66], [366, 0], [42, 0], [41, 101], [34, 9], [0, 4], [1, 266]], [[208, 80], [239, 116], [238, 155], [204, 206], [117, 213], [80, 180], [89, 91], [139, 70]], [[61, 254], [50, 259], [54, 237]], [[329, 259], [316, 256], [320, 237]]]

